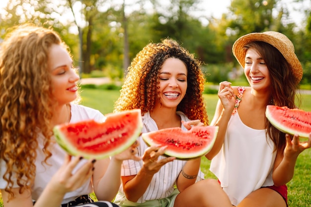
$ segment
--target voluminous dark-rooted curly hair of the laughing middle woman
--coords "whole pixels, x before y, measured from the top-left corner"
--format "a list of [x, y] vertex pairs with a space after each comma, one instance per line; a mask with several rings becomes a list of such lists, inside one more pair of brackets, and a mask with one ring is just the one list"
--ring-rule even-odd
[[161, 43], [150, 43], [140, 51], [127, 70], [119, 99], [114, 111], [140, 108], [142, 115], [152, 112], [158, 96], [159, 73], [163, 62], [170, 57], [178, 58], [187, 66], [187, 91], [177, 110], [182, 111], [191, 120], [200, 119], [208, 125], [204, 98], [205, 78], [201, 62], [172, 39]]

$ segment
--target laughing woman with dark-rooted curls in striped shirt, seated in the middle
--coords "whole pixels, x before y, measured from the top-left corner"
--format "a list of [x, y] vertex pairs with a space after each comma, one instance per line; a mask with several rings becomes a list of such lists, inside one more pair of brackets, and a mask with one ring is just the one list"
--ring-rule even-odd
[[[208, 125], [204, 83], [201, 63], [176, 41], [150, 43], [128, 68], [115, 111], [140, 108], [143, 133]], [[186, 161], [166, 157], [165, 146], [148, 148], [141, 137], [139, 141], [138, 155], [143, 160], [123, 162], [123, 185], [115, 203], [122, 207], [203, 206], [201, 158]]]

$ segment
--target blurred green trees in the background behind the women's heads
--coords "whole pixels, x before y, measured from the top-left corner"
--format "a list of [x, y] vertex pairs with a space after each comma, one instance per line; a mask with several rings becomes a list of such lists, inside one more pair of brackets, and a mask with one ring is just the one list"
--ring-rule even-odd
[[[126, 58], [132, 60], [148, 43], [170, 37], [208, 64], [206, 68], [210, 75], [206, 76], [207, 80], [218, 83], [230, 79], [228, 74], [232, 68], [239, 67], [232, 54], [233, 42], [239, 36], [274, 30], [292, 40], [304, 65], [303, 83], [311, 81], [310, 8], [301, 9], [306, 13], [307, 21], [305, 28], [298, 28], [288, 19], [288, 7], [280, 6], [280, 0], [232, 0], [230, 12], [223, 14], [221, 19], [191, 15], [190, 11], [202, 10], [199, 7], [202, 0], [168, 0], [170, 3], [165, 4], [153, 0], [150, 1], [152, 9], [145, 9], [146, 1], [127, 2], [125, 10], [134, 4], [135, 8], [124, 16], [122, 3], [112, 0], [83, 1], [82, 6], [79, 0], [8, 0], [6, 12], [1, 16], [0, 35], [3, 38], [8, 28], [24, 22], [53, 27], [70, 46], [75, 65], [84, 68], [84, 73], [103, 71], [112, 79], [123, 77], [124, 68], [128, 66], [124, 65]], [[71, 9], [74, 7], [78, 10], [73, 19]], [[77, 13], [82, 13], [83, 19]], [[66, 21], [65, 16], [68, 16]], [[203, 25], [201, 19], [207, 20], [208, 24]], [[80, 25], [81, 20], [85, 21], [85, 26]], [[82, 47], [78, 26], [82, 32]], [[124, 50], [126, 37], [128, 53]], [[222, 64], [225, 65], [222, 69], [213, 66]]]

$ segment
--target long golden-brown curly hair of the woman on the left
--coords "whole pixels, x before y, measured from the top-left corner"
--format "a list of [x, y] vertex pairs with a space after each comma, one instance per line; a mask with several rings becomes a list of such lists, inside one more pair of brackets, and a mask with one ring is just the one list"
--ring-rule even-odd
[[25, 24], [13, 28], [0, 46], [0, 160], [6, 164], [9, 199], [14, 198], [14, 180], [20, 193], [33, 183], [38, 133], [46, 137], [45, 161], [51, 156], [55, 101], [48, 56], [53, 44], [68, 49], [53, 30]]

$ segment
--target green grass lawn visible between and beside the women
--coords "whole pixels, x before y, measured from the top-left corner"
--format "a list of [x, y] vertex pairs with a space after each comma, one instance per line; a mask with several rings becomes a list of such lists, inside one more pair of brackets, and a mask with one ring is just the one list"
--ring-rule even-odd
[[[118, 99], [119, 91], [108, 91], [99, 89], [82, 89], [82, 105], [96, 108], [103, 114], [113, 111], [114, 102]], [[212, 120], [218, 101], [217, 95], [204, 94], [209, 121]], [[302, 95], [302, 109], [311, 111], [311, 95]], [[209, 171], [210, 160], [203, 157], [201, 170], [206, 178], [216, 178]], [[299, 155], [295, 167], [293, 179], [287, 184], [288, 200], [290, 207], [311, 207], [311, 150], [304, 151]], [[0, 207], [2, 201], [0, 198]]]

